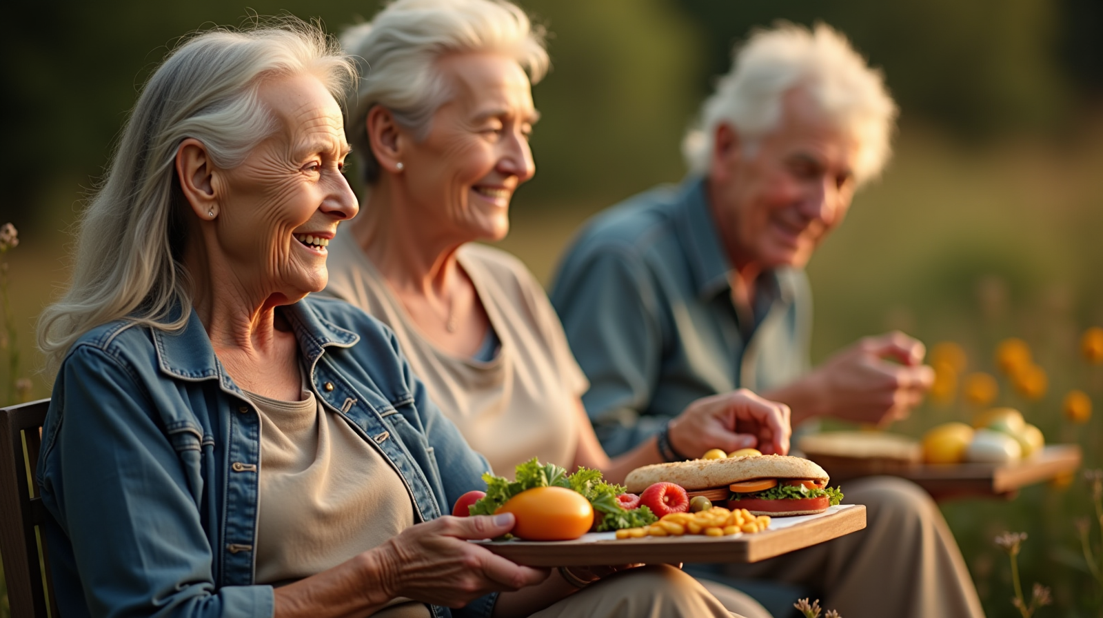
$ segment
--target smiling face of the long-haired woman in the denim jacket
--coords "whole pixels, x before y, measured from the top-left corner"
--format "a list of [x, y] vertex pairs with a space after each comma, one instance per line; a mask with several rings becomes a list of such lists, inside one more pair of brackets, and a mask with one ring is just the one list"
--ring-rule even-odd
[[325, 86], [300, 75], [272, 79], [259, 95], [278, 129], [215, 177], [224, 183], [215, 230], [232, 276], [278, 305], [325, 287], [325, 245], [357, 203], [342, 175], [341, 108]]

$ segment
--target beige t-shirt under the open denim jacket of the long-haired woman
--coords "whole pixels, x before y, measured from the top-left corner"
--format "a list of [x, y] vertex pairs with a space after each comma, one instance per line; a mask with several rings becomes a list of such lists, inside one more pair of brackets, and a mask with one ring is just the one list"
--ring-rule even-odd
[[[298, 402], [246, 395], [260, 415], [256, 583], [309, 577], [414, 525], [398, 472], [309, 388]], [[424, 604], [396, 598], [375, 616], [430, 615]]]

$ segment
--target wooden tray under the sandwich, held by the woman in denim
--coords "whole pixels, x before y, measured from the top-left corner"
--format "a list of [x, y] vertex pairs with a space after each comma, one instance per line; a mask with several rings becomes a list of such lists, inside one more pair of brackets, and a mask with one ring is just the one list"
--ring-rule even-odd
[[770, 529], [731, 536], [645, 536], [618, 540], [591, 532], [574, 541], [473, 541], [527, 566], [593, 566], [679, 562], [759, 562], [866, 528], [866, 508], [840, 504], [816, 515], [774, 518]]

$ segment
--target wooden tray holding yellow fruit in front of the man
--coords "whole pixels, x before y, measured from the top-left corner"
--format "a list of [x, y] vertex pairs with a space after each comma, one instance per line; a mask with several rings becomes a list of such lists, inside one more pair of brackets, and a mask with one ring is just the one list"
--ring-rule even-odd
[[933, 496], [1002, 496], [1060, 475], [1075, 472], [1082, 459], [1079, 445], [1052, 445], [1014, 464], [904, 464], [882, 459], [808, 456], [831, 475], [831, 484], [874, 475], [914, 481]]

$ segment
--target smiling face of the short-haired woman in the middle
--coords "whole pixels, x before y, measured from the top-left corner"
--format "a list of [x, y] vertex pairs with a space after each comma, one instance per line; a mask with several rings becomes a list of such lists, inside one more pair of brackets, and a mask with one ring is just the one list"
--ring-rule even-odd
[[406, 185], [426, 225], [457, 242], [497, 241], [510, 230], [510, 200], [536, 167], [528, 136], [537, 119], [528, 77], [513, 60], [460, 54], [439, 64], [454, 98], [429, 135], [406, 139]]

